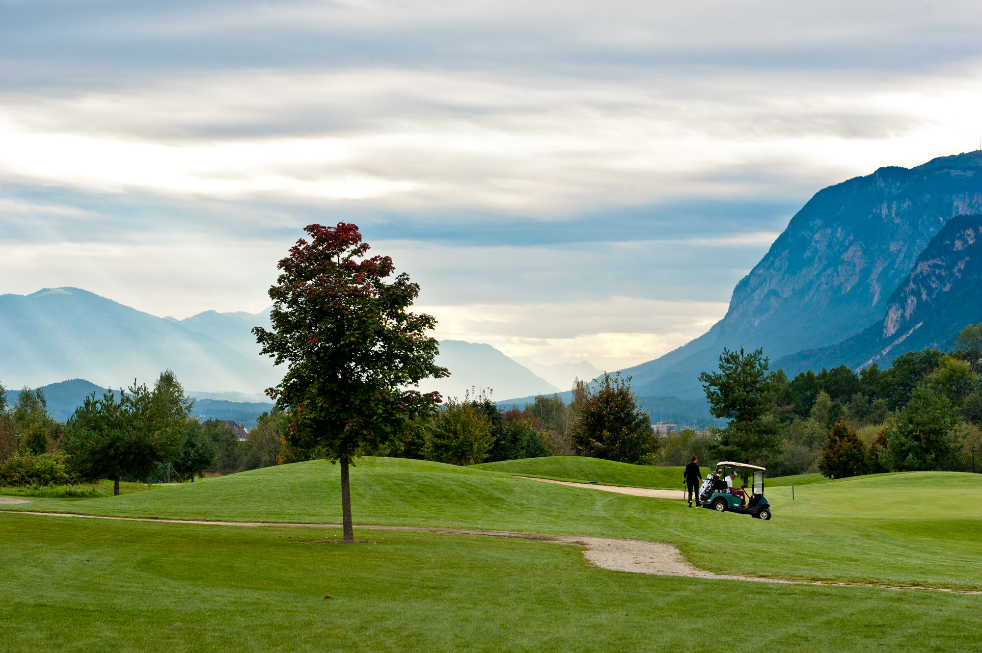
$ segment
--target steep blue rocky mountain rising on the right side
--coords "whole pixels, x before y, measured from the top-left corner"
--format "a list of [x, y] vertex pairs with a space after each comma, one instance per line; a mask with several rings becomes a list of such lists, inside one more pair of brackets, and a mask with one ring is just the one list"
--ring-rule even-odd
[[[967, 277], [952, 286], [958, 292], [928, 292], [938, 279], [962, 275], [955, 270], [955, 252], [961, 250], [955, 250], [955, 240], [944, 244], [953, 236], [943, 229], [953, 218], [977, 214], [982, 214], [982, 151], [940, 157], [911, 169], [881, 168], [824, 188], [736, 284], [720, 322], [679, 349], [625, 373], [633, 377], [639, 394], [697, 398], [702, 396], [699, 373], [716, 369], [724, 347], [762, 347], [774, 367], [789, 375], [846, 362], [889, 366], [911, 347], [944, 341], [960, 326], [982, 322], [977, 311], [956, 307], [966, 301], [965, 293], [975, 292]], [[948, 250], [941, 259], [935, 257]], [[915, 274], [921, 266], [926, 268]], [[898, 302], [910, 301], [918, 291], [918, 315], [940, 311], [947, 317], [908, 325], [913, 314]], [[925, 308], [928, 295], [930, 308]], [[972, 302], [968, 305], [977, 304]], [[881, 328], [881, 323], [891, 326]], [[904, 326], [899, 335], [891, 330], [894, 325]], [[897, 342], [911, 328], [917, 336]], [[874, 338], [877, 329], [883, 333]]]

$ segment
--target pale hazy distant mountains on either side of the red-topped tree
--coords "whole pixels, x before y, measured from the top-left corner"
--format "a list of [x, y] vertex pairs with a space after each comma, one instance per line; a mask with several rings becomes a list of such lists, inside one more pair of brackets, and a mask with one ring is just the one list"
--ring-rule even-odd
[[[0, 295], [0, 381], [10, 388], [44, 385], [57, 393], [57, 383], [45, 384], [75, 377], [88, 379], [89, 390], [120, 388], [134, 378], [151, 384], [160, 372], [171, 369], [201, 400], [262, 403], [262, 391], [278, 382], [281, 372], [268, 357], [259, 355], [251, 328], [268, 327], [270, 310], [205, 311], [176, 320], [137, 311], [81, 288]], [[452, 376], [424, 380], [423, 391], [461, 398], [471, 387], [486, 388], [496, 397], [559, 391], [487, 344], [444, 340], [438, 363]], [[585, 361], [574, 366], [532, 365], [564, 387], [570, 386], [571, 375], [595, 371]]]

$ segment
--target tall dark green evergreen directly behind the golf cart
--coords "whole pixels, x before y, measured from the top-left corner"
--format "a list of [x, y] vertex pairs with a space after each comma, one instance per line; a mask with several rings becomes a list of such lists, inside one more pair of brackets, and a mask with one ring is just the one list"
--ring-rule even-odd
[[724, 349], [720, 371], [699, 375], [713, 417], [730, 420], [727, 427], [714, 429], [716, 439], [707, 443], [716, 460], [758, 463], [781, 455], [768, 364], [760, 349], [749, 354]]

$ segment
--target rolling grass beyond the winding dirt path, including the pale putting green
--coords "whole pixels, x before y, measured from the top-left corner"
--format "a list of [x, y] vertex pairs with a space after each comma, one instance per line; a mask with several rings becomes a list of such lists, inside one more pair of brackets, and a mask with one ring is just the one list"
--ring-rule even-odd
[[[311, 461], [119, 497], [0, 506], [170, 519], [335, 523], [340, 474]], [[768, 491], [770, 522], [678, 500], [543, 483], [425, 461], [366, 458], [355, 524], [478, 527], [678, 545], [724, 574], [982, 589], [982, 475], [910, 473]]]

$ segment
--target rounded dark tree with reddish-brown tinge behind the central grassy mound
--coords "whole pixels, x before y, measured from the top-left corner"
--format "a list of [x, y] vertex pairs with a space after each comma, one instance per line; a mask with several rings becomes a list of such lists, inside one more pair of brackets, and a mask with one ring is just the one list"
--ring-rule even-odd
[[570, 443], [577, 455], [641, 463], [658, 453], [661, 438], [651, 418], [637, 406], [630, 377], [605, 374], [597, 387], [577, 398]]

